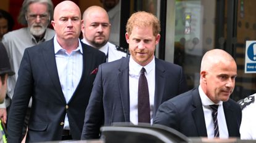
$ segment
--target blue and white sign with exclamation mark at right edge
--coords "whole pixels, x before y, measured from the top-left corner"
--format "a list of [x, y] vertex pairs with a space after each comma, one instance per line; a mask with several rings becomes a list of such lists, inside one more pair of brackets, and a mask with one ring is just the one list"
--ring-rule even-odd
[[246, 41], [245, 73], [256, 73], [256, 41]]

